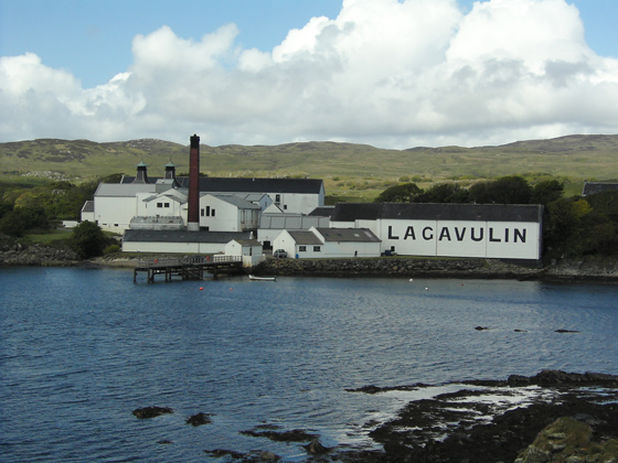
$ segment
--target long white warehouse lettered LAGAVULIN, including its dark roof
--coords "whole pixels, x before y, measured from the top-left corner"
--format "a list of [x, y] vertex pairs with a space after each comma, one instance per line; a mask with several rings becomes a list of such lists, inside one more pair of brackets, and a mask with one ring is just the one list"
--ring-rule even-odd
[[366, 227], [404, 256], [541, 258], [543, 206], [340, 203], [332, 227]]

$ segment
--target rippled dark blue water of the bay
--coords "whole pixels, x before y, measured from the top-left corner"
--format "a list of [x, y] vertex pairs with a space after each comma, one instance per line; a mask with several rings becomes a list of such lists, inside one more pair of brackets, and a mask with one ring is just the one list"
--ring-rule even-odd
[[[610, 284], [134, 284], [127, 270], [1, 269], [0, 461], [213, 461], [203, 451], [221, 448], [305, 459], [298, 444], [238, 433], [264, 423], [371, 444], [363, 424], [402, 399], [345, 388], [618, 374], [617, 295]], [[131, 414], [147, 406], [175, 412]], [[198, 412], [213, 423], [184, 423]]]

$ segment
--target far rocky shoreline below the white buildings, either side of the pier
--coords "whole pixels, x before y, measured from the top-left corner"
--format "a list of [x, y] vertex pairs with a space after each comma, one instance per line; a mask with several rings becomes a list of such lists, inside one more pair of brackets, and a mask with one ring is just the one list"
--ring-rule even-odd
[[[68, 248], [42, 245], [0, 248], [0, 266], [105, 266], [132, 268], [138, 258], [114, 254], [92, 260], [81, 260]], [[542, 266], [540, 262], [514, 262], [471, 258], [350, 258], [350, 259], [271, 259], [247, 272], [264, 276], [303, 277], [392, 277], [392, 278], [478, 278], [516, 280], [582, 280], [618, 282], [616, 259], [563, 259]]]

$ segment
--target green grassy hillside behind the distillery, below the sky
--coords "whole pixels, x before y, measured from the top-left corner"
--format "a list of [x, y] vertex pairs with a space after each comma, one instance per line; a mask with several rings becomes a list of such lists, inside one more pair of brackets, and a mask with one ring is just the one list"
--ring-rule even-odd
[[[140, 161], [160, 176], [172, 161], [189, 171], [189, 147], [143, 139], [96, 143], [88, 140], [40, 139], [0, 143], [0, 175], [67, 179], [73, 182], [135, 173]], [[618, 177], [618, 136], [569, 136], [519, 141], [499, 147], [443, 147], [385, 150], [366, 144], [305, 142], [280, 146], [201, 147], [201, 170], [212, 176], [307, 176], [323, 179], [327, 193], [339, 200], [372, 201], [397, 182], [427, 186], [441, 181], [522, 174], [560, 176], [567, 193], [585, 179]]]

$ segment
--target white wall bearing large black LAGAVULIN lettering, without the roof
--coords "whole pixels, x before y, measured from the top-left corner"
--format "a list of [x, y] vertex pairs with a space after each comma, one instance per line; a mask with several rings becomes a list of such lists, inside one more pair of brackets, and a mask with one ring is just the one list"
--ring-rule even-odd
[[380, 219], [384, 249], [404, 256], [539, 259], [541, 224]]

